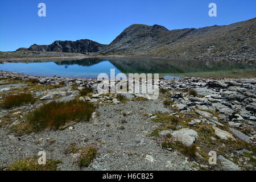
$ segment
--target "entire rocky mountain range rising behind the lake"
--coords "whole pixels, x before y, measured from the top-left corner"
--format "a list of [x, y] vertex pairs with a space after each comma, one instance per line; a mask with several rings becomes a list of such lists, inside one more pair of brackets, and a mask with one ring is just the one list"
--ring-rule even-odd
[[180, 30], [168, 30], [157, 24], [133, 24], [109, 45], [85, 39], [76, 42], [56, 41], [49, 46], [34, 44], [28, 50], [255, 61], [255, 27], [256, 18], [228, 26]]

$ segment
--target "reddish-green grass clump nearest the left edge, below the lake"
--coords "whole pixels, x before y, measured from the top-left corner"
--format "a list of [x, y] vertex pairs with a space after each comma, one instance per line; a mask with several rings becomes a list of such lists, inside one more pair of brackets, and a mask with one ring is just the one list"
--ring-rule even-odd
[[10, 109], [12, 107], [21, 106], [27, 103], [34, 103], [36, 98], [31, 93], [20, 93], [17, 95], [10, 95], [3, 99], [3, 107]]

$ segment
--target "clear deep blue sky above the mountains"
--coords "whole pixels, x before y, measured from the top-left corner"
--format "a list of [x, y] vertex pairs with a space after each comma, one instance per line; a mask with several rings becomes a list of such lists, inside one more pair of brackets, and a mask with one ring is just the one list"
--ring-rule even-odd
[[[38, 4], [46, 3], [46, 17]], [[217, 17], [208, 5], [217, 4]], [[169, 30], [236, 23], [256, 17], [255, 0], [1, 0], [0, 51], [55, 40], [91, 39], [109, 44], [134, 23]]]

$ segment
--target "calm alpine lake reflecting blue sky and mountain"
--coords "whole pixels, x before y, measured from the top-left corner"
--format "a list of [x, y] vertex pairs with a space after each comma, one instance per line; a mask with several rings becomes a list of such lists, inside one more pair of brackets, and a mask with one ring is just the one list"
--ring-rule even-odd
[[222, 61], [195, 61], [145, 58], [83, 59], [46, 63], [6, 63], [0, 70], [36, 76], [97, 78], [99, 73], [159, 73], [160, 77], [225, 75], [255, 73], [256, 65], [225, 63]]

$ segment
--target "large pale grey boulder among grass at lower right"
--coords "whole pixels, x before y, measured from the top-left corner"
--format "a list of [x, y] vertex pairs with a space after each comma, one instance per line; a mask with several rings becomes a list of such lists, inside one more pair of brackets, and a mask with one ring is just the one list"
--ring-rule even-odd
[[184, 145], [190, 147], [193, 143], [195, 143], [198, 134], [195, 130], [192, 129], [180, 129], [174, 131], [172, 133], [172, 137], [174, 137], [174, 139], [180, 141]]

